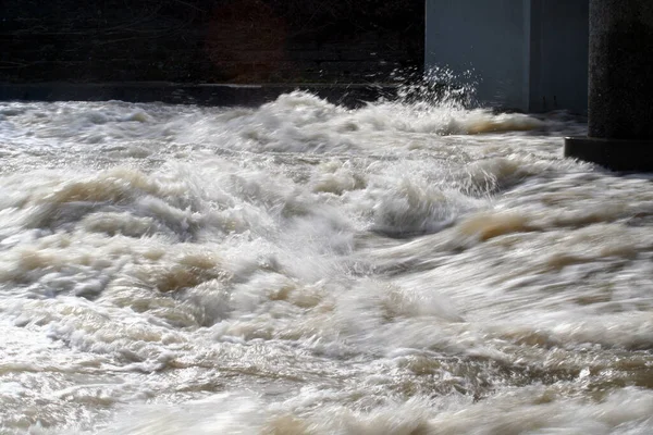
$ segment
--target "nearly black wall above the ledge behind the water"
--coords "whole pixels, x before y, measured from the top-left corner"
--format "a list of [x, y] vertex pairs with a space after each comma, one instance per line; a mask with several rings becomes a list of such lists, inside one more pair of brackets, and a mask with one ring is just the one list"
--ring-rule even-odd
[[423, 0], [1, 4], [3, 83], [370, 83], [423, 64]]

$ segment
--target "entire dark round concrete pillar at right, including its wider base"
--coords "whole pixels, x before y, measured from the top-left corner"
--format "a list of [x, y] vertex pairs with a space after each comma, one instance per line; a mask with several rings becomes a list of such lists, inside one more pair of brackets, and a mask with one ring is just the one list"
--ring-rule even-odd
[[565, 156], [653, 171], [653, 1], [590, 0], [588, 137]]

